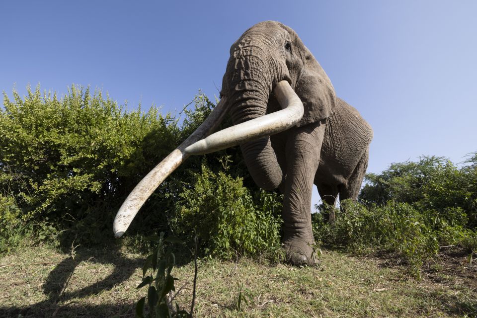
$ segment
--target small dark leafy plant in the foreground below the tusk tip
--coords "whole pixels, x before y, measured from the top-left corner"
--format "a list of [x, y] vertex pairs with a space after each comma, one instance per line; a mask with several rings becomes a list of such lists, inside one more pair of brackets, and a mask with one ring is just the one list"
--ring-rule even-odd
[[[164, 242], [182, 243], [179, 239], [168, 237], [164, 239], [164, 233], [161, 232], [159, 238], [150, 239], [158, 242], [157, 248], [148, 256], [143, 266], [143, 281], [136, 288], [149, 286], [148, 295], [142, 297], [136, 304], [136, 317], [144, 318], [185, 318], [192, 317], [194, 301], [191, 305], [191, 312], [180, 310], [179, 305], [172, 304], [177, 293], [175, 292], [174, 282], [177, 278], [173, 277], [171, 272], [175, 265], [175, 255], [172, 251], [164, 248]], [[149, 275], [147, 272], [152, 269]], [[196, 267], [197, 274], [197, 267]], [[177, 291], [178, 292], [178, 291]], [[195, 279], [194, 279], [194, 299], [195, 299]], [[149, 307], [149, 312], [145, 315], [145, 304]]]

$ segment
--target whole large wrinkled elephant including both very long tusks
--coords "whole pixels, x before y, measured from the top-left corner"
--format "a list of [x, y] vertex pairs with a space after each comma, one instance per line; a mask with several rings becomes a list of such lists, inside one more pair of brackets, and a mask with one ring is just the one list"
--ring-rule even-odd
[[[230, 49], [221, 99], [202, 125], [130, 193], [113, 230], [124, 234], [159, 184], [187, 157], [239, 145], [255, 183], [283, 199], [286, 261], [312, 265], [313, 185], [322, 200], [356, 200], [368, 166], [371, 126], [336, 97], [330, 79], [294, 30], [264, 21]], [[233, 126], [211, 134], [230, 113]]]

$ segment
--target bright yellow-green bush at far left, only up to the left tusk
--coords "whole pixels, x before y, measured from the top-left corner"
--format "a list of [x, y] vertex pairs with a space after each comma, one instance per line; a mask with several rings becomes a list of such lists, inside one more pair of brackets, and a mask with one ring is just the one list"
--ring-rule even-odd
[[0, 193], [15, 198], [17, 222], [67, 229], [77, 241], [111, 233], [119, 204], [179, 136], [158, 108], [126, 112], [89, 88], [72, 86], [61, 99], [28, 88], [24, 99], [4, 94], [3, 104]]

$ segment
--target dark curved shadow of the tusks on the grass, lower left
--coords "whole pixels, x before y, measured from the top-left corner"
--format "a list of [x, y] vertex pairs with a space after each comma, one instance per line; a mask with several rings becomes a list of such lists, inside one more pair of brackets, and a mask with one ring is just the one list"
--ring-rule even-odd
[[[75, 289], [71, 278], [81, 262], [112, 264], [114, 269], [104, 279], [89, 286]], [[107, 303], [107, 299], [83, 299], [112, 289], [131, 277], [137, 268], [142, 267], [143, 258], [126, 258], [116, 248], [98, 251], [79, 250], [74, 257], [61, 261], [48, 274], [43, 293], [48, 299], [27, 307], [6, 307], [0, 305], [0, 317], [134, 317], [135, 304], [128, 297], [113, 300], [117, 304]], [[89, 277], [88, 280], [94, 280]], [[72, 290], [71, 292], [69, 290]]]

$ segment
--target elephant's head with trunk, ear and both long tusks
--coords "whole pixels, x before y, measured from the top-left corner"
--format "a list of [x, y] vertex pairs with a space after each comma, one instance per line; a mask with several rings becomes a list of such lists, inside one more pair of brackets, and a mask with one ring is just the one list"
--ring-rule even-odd
[[[196, 132], [131, 192], [115, 218], [115, 236], [122, 236], [147, 198], [189, 155], [240, 145], [257, 185], [264, 189], [283, 185], [287, 171], [270, 136], [315, 127], [333, 113], [335, 106], [330, 80], [295, 31], [275, 21], [252, 26], [230, 49], [221, 101]], [[227, 112], [234, 125], [208, 136]], [[313, 176], [314, 172], [312, 185]]]

